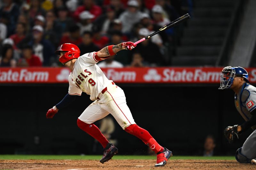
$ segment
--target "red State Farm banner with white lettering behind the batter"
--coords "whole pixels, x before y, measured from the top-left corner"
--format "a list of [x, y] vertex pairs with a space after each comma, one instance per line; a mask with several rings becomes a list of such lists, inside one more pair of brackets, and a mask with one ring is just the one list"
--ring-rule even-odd
[[[219, 67], [146, 67], [102, 69], [116, 83], [220, 83]], [[256, 83], [256, 68], [248, 68]], [[0, 68], [0, 83], [67, 83], [68, 68]], [[96, 80], [95, 80], [96, 81]]]

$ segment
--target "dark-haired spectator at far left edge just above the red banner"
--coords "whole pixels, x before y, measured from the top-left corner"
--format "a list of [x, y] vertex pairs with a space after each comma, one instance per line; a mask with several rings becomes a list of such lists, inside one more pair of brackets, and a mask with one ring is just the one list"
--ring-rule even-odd
[[16, 67], [16, 61], [13, 59], [12, 46], [4, 46], [2, 57], [0, 58], [0, 67]]

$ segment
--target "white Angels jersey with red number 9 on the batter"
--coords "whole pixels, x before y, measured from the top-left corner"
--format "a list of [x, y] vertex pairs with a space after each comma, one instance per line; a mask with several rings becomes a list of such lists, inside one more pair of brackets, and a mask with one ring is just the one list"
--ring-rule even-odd
[[91, 100], [96, 100], [99, 93], [112, 82], [96, 65], [99, 61], [95, 59], [94, 53], [86, 53], [77, 58], [68, 77], [70, 95], [80, 96], [85, 92], [90, 95]]

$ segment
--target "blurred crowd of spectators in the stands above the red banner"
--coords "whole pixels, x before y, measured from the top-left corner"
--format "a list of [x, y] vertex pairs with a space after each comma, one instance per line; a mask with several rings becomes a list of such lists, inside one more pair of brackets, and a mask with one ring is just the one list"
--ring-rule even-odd
[[[1, 0], [0, 67], [61, 66], [54, 51], [76, 44], [81, 55], [135, 42], [191, 13], [192, 0]], [[178, 29], [180, 28], [180, 29]], [[170, 65], [181, 27], [141, 42], [100, 67]]]

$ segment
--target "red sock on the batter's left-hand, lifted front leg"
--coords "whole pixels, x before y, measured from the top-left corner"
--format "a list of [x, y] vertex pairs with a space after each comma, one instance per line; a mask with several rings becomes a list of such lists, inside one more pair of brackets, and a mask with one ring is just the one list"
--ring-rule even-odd
[[77, 126], [84, 130], [86, 133], [88, 133], [89, 135], [91, 135], [94, 139], [96, 139], [97, 141], [100, 142], [100, 144], [103, 146], [103, 148], [106, 148], [107, 144], [108, 144], [108, 139], [106, 139], [106, 137], [104, 137], [104, 135], [102, 135], [102, 133], [100, 132], [100, 129], [95, 126], [95, 124], [87, 124], [83, 121], [81, 121], [80, 119], [77, 119]]

